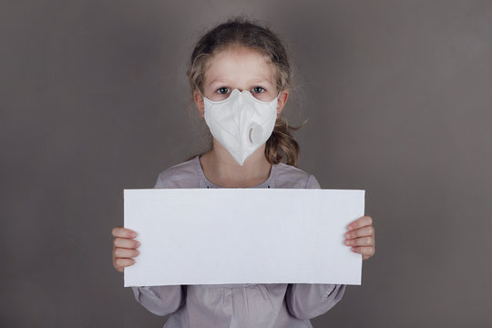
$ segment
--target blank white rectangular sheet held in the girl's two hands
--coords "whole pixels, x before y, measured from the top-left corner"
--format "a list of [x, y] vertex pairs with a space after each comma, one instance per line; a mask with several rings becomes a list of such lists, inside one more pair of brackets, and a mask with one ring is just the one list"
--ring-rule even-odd
[[365, 190], [124, 190], [140, 254], [125, 287], [220, 283], [361, 284], [343, 243]]

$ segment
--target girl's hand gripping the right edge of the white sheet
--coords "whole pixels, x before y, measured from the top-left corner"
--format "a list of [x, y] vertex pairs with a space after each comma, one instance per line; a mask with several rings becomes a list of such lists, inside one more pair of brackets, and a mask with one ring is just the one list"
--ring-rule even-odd
[[369, 259], [375, 252], [373, 219], [364, 215], [348, 225], [345, 245], [352, 246], [352, 251], [363, 254], [363, 260]]

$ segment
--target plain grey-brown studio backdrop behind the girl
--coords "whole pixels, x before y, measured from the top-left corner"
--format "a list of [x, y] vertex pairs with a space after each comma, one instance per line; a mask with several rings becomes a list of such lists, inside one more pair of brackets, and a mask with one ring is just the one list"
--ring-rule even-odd
[[185, 80], [244, 14], [288, 43], [300, 168], [376, 254], [315, 327], [490, 327], [492, 2], [2, 1], [3, 327], [161, 327], [111, 264], [122, 190], [203, 150]]

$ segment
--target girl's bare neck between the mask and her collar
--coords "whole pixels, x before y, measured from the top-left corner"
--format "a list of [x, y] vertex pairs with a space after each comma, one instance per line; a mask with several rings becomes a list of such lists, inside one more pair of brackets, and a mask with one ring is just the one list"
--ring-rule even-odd
[[243, 165], [213, 139], [213, 149], [200, 156], [203, 173], [216, 186], [222, 188], [248, 188], [268, 179], [272, 164], [265, 158], [265, 144], [246, 159]]

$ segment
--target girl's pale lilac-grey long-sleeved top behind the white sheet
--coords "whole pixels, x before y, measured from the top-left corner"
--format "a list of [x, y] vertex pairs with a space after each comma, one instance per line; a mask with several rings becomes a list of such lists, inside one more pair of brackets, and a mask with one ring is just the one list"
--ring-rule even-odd
[[[159, 174], [154, 188], [220, 188], [205, 177], [199, 156]], [[270, 177], [251, 188], [320, 189], [313, 175], [272, 165]], [[132, 287], [149, 312], [169, 315], [163, 328], [306, 328], [343, 297], [345, 285], [238, 283]]]

